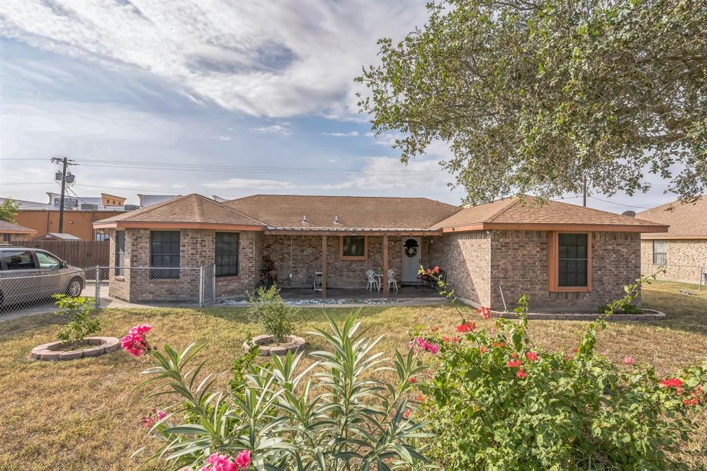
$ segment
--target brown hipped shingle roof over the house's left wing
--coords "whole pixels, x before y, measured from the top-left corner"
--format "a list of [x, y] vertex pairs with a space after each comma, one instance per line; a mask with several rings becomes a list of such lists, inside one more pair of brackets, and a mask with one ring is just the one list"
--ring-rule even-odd
[[226, 207], [221, 203], [215, 202], [213, 199], [195, 193], [96, 221], [97, 224], [113, 222], [205, 223], [264, 226], [264, 223], [240, 211]]

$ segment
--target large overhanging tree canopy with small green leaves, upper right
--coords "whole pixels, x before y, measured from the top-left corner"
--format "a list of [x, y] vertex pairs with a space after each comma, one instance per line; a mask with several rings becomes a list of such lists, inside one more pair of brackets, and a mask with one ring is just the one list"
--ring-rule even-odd
[[707, 186], [703, 0], [447, 0], [356, 80], [404, 163], [434, 139], [467, 202]]

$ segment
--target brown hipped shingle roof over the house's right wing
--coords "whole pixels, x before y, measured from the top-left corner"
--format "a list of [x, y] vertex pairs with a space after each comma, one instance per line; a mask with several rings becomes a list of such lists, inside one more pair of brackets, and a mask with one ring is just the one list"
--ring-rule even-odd
[[452, 228], [491, 225], [590, 225], [590, 226], [633, 226], [655, 230], [656, 223], [630, 218], [621, 214], [585, 208], [557, 201], [542, 206], [533, 204], [532, 197], [525, 197], [521, 204], [519, 197], [499, 199], [491, 203], [464, 208], [453, 216], [435, 224], [435, 228]]

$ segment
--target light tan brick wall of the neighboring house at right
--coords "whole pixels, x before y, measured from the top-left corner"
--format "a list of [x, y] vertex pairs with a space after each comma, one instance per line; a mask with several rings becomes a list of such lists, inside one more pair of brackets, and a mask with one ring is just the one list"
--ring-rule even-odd
[[[659, 279], [699, 283], [702, 270], [707, 270], [707, 240], [667, 240], [667, 267]], [[653, 240], [641, 240], [641, 274], [653, 274], [660, 266], [653, 264]]]

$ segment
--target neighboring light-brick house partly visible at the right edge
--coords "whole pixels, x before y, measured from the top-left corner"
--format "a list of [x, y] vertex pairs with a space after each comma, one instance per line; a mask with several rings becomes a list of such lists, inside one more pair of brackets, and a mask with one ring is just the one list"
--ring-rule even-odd
[[670, 225], [667, 233], [641, 234], [643, 274], [654, 273], [665, 265], [661, 278], [699, 283], [707, 271], [707, 195], [694, 203], [663, 204], [641, 211], [636, 217]]

